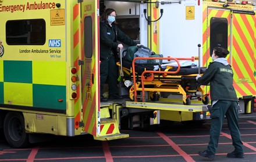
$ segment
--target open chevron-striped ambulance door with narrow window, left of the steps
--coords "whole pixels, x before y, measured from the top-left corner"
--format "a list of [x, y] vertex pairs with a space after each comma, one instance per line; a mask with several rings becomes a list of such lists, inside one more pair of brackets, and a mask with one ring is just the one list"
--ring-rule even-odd
[[[81, 10], [81, 98], [84, 132], [99, 134], [98, 1], [87, 0]], [[79, 33], [77, 33], [79, 34]]]

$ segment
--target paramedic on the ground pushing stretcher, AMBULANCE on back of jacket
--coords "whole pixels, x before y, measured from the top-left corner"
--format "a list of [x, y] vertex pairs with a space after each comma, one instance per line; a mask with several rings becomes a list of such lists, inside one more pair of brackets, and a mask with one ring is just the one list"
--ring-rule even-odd
[[202, 77], [201, 75], [196, 77], [201, 85], [210, 83], [212, 103], [210, 140], [207, 150], [198, 152], [200, 156], [209, 160], [214, 160], [225, 116], [234, 146], [234, 151], [227, 153], [227, 157], [244, 157], [237, 112], [239, 100], [233, 87], [233, 71], [226, 59], [228, 54], [227, 49], [214, 48], [211, 56], [213, 62], [209, 64]]

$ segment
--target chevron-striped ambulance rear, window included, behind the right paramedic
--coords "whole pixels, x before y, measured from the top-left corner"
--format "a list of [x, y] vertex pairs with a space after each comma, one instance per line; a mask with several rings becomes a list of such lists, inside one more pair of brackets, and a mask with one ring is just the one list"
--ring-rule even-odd
[[[256, 95], [254, 10], [207, 8], [205, 21], [207, 26], [204, 32], [207, 34], [204, 34], [203, 42], [207, 44], [207, 49], [203, 57], [206, 64], [212, 62], [210, 53], [218, 44], [227, 48], [230, 54], [226, 58], [233, 69], [237, 97], [246, 102], [245, 99], [250, 96], [247, 98], [250, 102]], [[206, 23], [203, 21], [203, 24]], [[250, 104], [245, 105], [245, 113], [251, 113]]]

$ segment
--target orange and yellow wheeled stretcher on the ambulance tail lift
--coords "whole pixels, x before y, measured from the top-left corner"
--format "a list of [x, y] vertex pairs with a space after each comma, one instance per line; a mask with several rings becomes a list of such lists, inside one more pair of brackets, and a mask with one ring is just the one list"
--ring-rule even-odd
[[[135, 63], [137, 59], [161, 59], [161, 60], [174, 60], [177, 63], [177, 67], [173, 68], [166, 66], [166, 68], [161, 68], [159, 66], [158, 70], [152, 70], [145, 68], [143, 71], [136, 71]], [[169, 92], [182, 95], [182, 100], [184, 105], [190, 105], [191, 99], [202, 100], [202, 103], [207, 105], [209, 103], [209, 97], [205, 93], [204, 89], [198, 85], [195, 77], [197, 74], [201, 74], [206, 69], [205, 67], [189, 67], [185, 69], [180, 66], [179, 60], [190, 60], [194, 62], [196, 58], [173, 58], [173, 57], [136, 57], [129, 67], [123, 67], [121, 63], [117, 63], [120, 66], [120, 74], [123, 75], [123, 71], [126, 73], [130, 72], [130, 80], [133, 82], [129, 89], [129, 97], [131, 100], [138, 101], [138, 92], [141, 92], [142, 102], [146, 101], [145, 92], [148, 92], [149, 98], [152, 101], [159, 99], [160, 92]], [[191, 70], [192, 72], [191, 72]], [[186, 74], [186, 71], [189, 73]], [[201, 92], [198, 95], [197, 92]]]

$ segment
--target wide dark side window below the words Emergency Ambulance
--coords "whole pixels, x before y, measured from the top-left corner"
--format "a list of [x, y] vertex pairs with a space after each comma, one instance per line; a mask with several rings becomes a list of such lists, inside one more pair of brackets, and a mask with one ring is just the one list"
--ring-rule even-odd
[[6, 22], [8, 45], [44, 45], [44, 19], [9, 20]]

